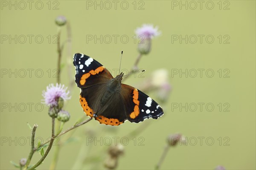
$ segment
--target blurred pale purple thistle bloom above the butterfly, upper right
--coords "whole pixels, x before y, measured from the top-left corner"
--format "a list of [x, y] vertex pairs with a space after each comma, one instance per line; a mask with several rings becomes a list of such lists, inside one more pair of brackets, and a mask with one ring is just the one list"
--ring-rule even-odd
[[144, 35], [146, 38], [157, 37], [161, 34], [160, 31], [158, 31], [158, 27], [156, 26], [154, 28], [154, 26], [151, 24], [143, 24], [142, 27], [135, 30], [135, 33], [137, 36]]

